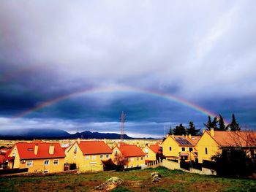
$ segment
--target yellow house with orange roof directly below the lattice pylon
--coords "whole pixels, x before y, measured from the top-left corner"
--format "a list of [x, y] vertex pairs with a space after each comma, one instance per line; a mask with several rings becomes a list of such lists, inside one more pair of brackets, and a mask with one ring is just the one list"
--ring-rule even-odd
[[137, 145], [128, 145], [123, 142], [113, 147], [112, 159], [115, 162], [118, 155], [124, 156], [128, 163], [124, 168], [145, 166], [145, 153]]

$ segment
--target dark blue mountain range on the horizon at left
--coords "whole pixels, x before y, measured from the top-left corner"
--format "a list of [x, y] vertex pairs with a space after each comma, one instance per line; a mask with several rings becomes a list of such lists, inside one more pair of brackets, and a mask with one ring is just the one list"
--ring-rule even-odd
[[[98, 133], [91, 131], [83, 131], [77, 134], [69, 134], [67, 131], [60, 129], [37, 129], [37, 128], [22, 128], [1, 130], [0, 139], [120, 139], [120, 134], [113, 133]], [[124, 139], [133, 139], [124, 134]]]

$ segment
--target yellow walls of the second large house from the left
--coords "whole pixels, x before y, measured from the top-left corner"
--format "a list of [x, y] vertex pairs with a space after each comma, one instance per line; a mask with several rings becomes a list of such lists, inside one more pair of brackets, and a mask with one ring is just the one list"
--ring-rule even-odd
[[[76, 153], [74, 153], [75, 147], [77, 147]], [[102, 158], [100, 158], [101, 155]], [[70, 150], [66, 152], [65, 163], [76, 164], [80, 172], [96, 172], [103, 171], [102, 160], [108, 160], [110, 157], [111, 154], [83, 155], [78, 144], [75, 143], [70, 147]]]

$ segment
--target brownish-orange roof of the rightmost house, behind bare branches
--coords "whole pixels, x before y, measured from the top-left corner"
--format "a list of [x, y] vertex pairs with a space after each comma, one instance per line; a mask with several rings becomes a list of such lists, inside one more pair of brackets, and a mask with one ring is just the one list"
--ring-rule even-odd
[[[211, 136], [211, 131], [206, 131]], [[212, 137], [221, 147], [256, 147], [256, 132], [250, 131], [214, 131]]]

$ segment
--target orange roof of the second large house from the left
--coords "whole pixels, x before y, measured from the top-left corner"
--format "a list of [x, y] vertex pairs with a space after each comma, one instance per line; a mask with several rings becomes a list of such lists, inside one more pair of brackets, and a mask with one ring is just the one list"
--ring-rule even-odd
[[[78, 143], [78, 142], [77, 142]], [[80, 141], [78, 147], [85, 154], [110, 154], [112, 150], [103, 141]]]

